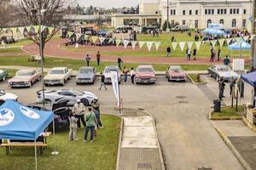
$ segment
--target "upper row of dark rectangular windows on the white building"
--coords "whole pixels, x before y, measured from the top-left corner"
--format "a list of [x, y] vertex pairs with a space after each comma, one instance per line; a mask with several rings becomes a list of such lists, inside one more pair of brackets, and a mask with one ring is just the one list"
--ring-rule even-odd
[[[227, 14], [227, 9], [226, 8], [218, 8], [217, 14]], [[170, 10], [171, 15], [176, 15], [176, 9], [171, 9]], [[189, 10], [189, 15], [193, 14], [192, 10]], [[195, 9], [195, 15], [198, 14], [198, 10]], [[206, 8], [205, 9], [205, 14], [215, 14], [215, 9], [214, 8]], [[239, 8], [230, 8], [230, 14], [240, 14]], [[243, 14], [247, 14], [247, 10], [243, 9]], [[186, 15], [186, 10], [183, 10], [183, 15]]]

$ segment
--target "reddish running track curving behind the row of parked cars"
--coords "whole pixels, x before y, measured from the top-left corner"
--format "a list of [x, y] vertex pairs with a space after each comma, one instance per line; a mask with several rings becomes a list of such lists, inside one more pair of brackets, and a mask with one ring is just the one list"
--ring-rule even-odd
[[[116, 48], [114, 47], [88, 47], [86, 51], [69, 51], [65, 48], [61, 48], [67, 42], [67, 39], [53, 40], [47, 42], [44, 54], [47, 56], [59, 57], [59, 58], [68, 58], [68, 59], [84, 59], [85, 54], [90, 54], [90, 57], [93, 60], [96, 60], [96, 51], [125, 51], [131, 50], [130, 48], [124, 49], [123, 47]], [[93, 48], [93, 51], [90, 49]], [[39, 54], [38, 45], [29, 44], [23, 47], [23, 50], [28, 54]], [[118, 56], [113, 55], [103, 55], [102, 61], [111, 61], [116, 62]], [[180, 65], [212, 65], [213, 63], [209, 61], [208, 58], [198, 58], [196, 60], [186, 60], [179, 57], [148, 57], [148, 56], [122, 56], [122, 59], [125, 63], [151, 63], [151, 64], [180, 64]], [[247, 60], [248, 61], [248, 60]], [[222, 64], [223, 61], [215, 62], [214, 64]]]

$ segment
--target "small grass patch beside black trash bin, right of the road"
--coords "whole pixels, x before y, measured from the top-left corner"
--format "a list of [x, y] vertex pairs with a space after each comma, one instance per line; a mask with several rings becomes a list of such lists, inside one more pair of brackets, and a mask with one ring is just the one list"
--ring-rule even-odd
[[239, 105], [236, 112], [236, 105], [233, 108], [230, 106], [221, 108], [221, 112], [213, 112], [212, 117], [229, 117], [229, 116], [241, 116], [244, 111], [244, 106]]

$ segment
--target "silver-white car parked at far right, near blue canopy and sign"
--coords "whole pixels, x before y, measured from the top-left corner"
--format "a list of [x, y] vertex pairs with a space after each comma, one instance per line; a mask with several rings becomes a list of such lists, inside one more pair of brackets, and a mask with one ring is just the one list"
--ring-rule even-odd
[[236, 72], [232, 71], [228, 65], [213, 65], [208, 68], [208, 74], [215, 78], [217, 82], [221, 77], [223, 77], [226, 82], [229, 82], [231, 77], [234, 79], [238, 78]]

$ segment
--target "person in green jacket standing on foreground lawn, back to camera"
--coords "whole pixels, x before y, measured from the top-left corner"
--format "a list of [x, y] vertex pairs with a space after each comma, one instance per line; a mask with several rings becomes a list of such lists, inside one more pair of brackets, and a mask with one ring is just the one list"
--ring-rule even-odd
[[86, 122], [86, 127], [84, 130], [84, 142], [87, 142], [87, 136], [90, 131], [90, 142], [93, 142], [94, 137], [94, 129], [96, 127], [96, 115], [93, 111], [91, 111], [91, 108], [88, 108], [88, 113], [85, 114], [84, 119]]

